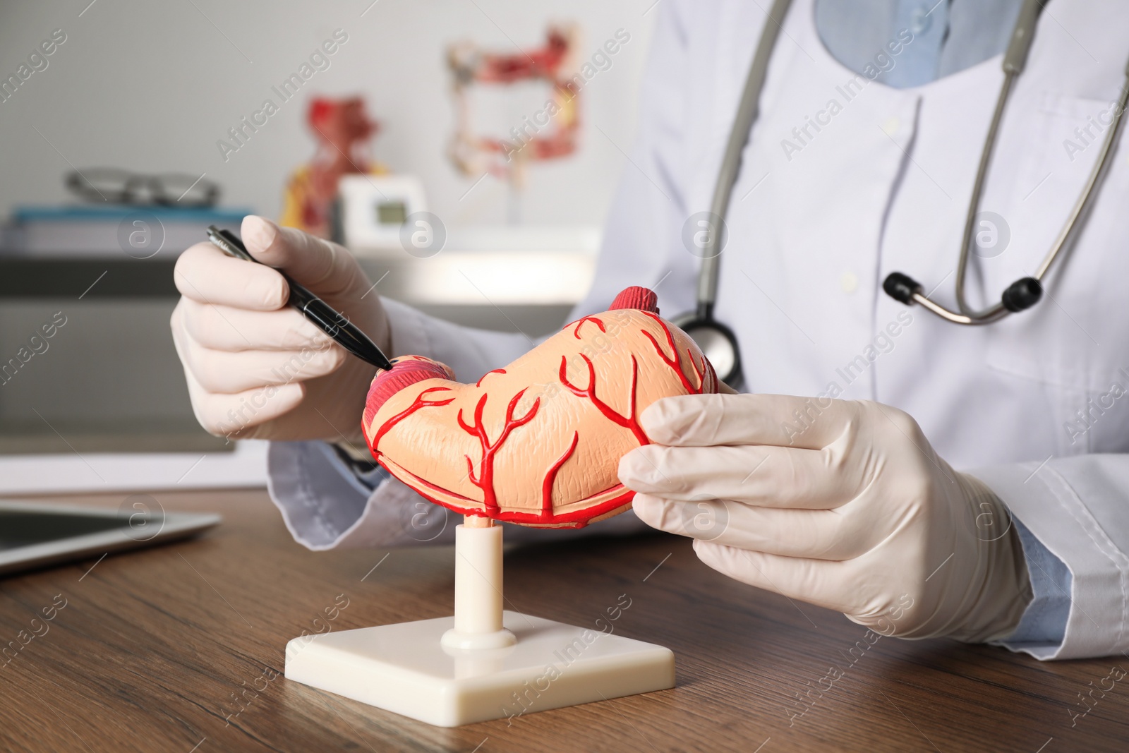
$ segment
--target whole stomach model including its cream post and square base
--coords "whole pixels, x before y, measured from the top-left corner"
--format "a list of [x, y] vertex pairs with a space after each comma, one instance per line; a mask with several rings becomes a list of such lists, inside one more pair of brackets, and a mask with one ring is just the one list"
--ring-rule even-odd
[[429, 358], [393, 359], [373, 379], [362, 428], [393, 475], [466, 516], [455, 613], [296, 638], [287, 678], [444, 727], [674, 688], [668, 648], [504, 610], [495, 520], [579, 528], [627, 510], [633, 492], [616, 471], [649, 441], [642, 411], [717, 391], [709, 361], [645, 288], [474, 384]]

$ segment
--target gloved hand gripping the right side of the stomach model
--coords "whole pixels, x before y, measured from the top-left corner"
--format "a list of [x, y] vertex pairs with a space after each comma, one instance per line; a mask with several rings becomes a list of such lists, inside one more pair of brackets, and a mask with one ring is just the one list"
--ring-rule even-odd
[[883, 634], [1008, 636], [1031, 602], [1004, 504], [908, 414], [872, 402], [688, 395], [620, 463], [649, 525], [711, 568]]

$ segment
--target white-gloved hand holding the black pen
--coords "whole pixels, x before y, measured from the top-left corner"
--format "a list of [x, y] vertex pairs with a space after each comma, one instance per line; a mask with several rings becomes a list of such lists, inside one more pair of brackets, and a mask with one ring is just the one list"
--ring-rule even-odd
[[271, 268], [390, 352], [379, 296], [336, 244], [255, 216], [244, 218], [242, 238], [263, 264], [227, 256], [210, 243], [176, 261], [182, 298], [173, 312], [173, 342], [196, 419], [211, 434], [233, 438], [362, 443], [360, 417], [375, 367], [287, 306], [287, 282]]

